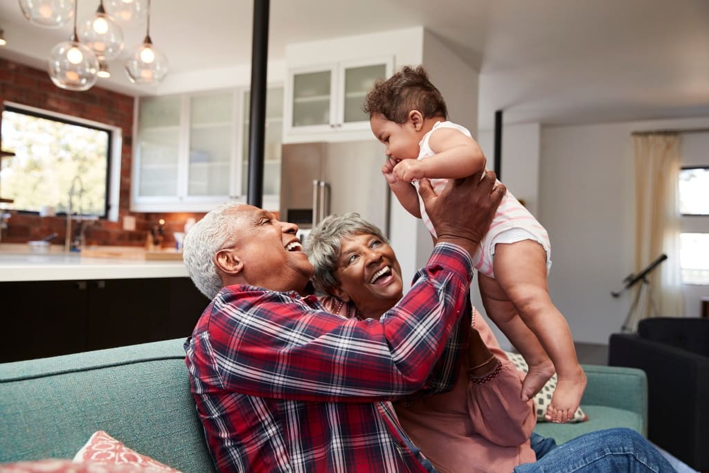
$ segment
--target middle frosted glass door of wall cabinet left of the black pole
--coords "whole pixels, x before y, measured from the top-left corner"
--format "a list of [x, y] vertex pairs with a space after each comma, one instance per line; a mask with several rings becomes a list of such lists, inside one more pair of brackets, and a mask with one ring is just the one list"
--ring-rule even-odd
[[228, 196], [234, 142], [234, 94], [190, 97], [188, 196]]

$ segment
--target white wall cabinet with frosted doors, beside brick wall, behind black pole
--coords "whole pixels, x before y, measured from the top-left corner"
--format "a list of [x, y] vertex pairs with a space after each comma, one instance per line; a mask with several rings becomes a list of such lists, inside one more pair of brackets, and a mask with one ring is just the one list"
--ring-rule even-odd
[[[243, 89], [229, 89], [140, 99], [131, 210], [199, 212], [228, 200], [245, 201], [249, 138], [245, 95]], [[270, 110], [272, 128], [279, 131], [267, 134], [267, 150], [278, 152], [282, 97], [282, 88], [267, 91], [267, 106], [279, 103]], [[266, 160], [264, 194], [276, 189], [272, 200], [277, 201], [279, 188], [267, 179], [280, 176], [278, 156]]]

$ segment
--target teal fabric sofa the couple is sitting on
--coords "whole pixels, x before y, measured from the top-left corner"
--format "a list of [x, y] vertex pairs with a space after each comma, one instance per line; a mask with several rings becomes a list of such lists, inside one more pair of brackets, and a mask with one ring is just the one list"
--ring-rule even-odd
[[[184, 364], [184, 339], [0, 365], [0, 463], [72, 458], [96, 430], [185, 473], [213, 472]], [[584, 365], [589, 421], [537, 425], [563, 443], [630, 427], [645, 435], [639, 369]]]

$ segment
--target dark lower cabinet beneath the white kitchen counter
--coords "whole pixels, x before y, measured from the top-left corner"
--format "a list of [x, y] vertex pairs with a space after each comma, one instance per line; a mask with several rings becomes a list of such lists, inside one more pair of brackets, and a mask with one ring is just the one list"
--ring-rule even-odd
[[0, 362], [186, 338], [208, 304], [186, 277], [0, 282]]

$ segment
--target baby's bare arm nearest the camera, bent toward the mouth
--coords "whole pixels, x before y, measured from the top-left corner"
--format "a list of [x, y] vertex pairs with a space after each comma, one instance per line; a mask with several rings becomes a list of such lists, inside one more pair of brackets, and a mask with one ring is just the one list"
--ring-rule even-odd
[[453, 128], [431, 133], [428, 145], [435, 155], [425, 160], [402, 160], [393, 169], [396, 179], [459, 179], [485, 168], [485, 155], [478, 143]]

